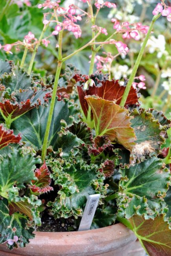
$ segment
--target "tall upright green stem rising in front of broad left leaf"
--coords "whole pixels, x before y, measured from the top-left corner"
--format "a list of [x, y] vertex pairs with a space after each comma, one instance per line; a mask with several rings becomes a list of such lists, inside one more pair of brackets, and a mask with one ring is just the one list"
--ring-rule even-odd
[[51, 103], [50, 103], [50, 110], [49, 110], [49, 115], [48, 115], [48, 121], [46, 124], [46, 131], [44, 134], [44, 141], [42, 145], [42, 161], [44, 161], [44, 158], [46, 157], [46, 152], [47, 152], [47, 146], [48, 146], [48, 139], [49, 139], [49, 132], [50, 132], [50, 126], [51, 126], [51, 120], [53, 116], [53, 109], [55, 106], [55, 99], [56, 99], [56, 93], [57, 93], [57, 87], [58, 87], [58, 81], [59, 81], [59, 76], [61, 73], [61, 68], [62, 68], [62, 40], [63, 40], [63, 30], [59, 32], [59, 48], [58, 48], [58, 65], [57, 65], [57, 70], [56, 70], [56, 75], [55, 75], [55, 81], [53, 85], [53, 92], [51, 96]]

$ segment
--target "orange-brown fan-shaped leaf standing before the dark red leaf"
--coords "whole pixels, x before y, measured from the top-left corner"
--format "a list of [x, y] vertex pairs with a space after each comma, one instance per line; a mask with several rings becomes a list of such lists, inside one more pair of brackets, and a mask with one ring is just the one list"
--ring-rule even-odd
[[134, 129], [131, 128], [131, 117], [127, 115], [127, 109], [102, 98], [85, 98], [94, 115], [96, 136], [108, 135], [111, 141], [116, 141], [131, 150], [136, 136]]

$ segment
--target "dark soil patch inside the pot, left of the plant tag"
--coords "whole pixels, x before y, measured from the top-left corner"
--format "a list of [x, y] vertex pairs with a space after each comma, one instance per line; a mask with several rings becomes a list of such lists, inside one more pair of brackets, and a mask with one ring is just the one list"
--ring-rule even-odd
[[53, 216], [48, 215], [46, 211], [42, 213], [41, 217], [42, 225], [37, 228], [37, 231], [44, 232], [67, 232], [67, 231], [77, 231], [78, 226], [74, 217], [68, 219], [54, 219]]

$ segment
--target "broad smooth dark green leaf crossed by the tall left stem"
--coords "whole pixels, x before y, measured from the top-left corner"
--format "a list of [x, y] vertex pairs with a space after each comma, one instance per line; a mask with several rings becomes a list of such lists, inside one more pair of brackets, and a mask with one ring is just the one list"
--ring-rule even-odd
[[[18, 133], [18, 131], [20, 131], [22, 140], [26, 142], [27, 145], [41, 148], [44, 140], [49, 109], [50, 104], [48, 104], [47, 107], [40, 106], [39, 109], [31, 109], [31, 111], [13, 122], [12, 127], [14, 132]], [[71, 126], [74, 118], [77, 119], [77, 113], [79, 113], [79, 110], [72, 102], [66, 99], [57, 101], [56, 98], [48, 146], [55, 145], [57, 137], [59, 136], [58, 132], [61, 130], [61, 120], [63, 119], [67, 126]]]

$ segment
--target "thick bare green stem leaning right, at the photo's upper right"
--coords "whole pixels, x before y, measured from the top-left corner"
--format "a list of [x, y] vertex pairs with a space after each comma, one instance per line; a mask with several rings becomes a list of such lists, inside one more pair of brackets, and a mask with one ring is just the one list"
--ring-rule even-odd
[[130, 78], [129, 78], [129, 81], [128, 81], [128, 83], [127, 83], [127, 86], [126, 86], [126, 88], [125, 88], [125, 91], [124, 91], [124, 93], [123, 93], [123, 96], [122, 96], [122, 99], [121, 99], [121, 103], [120, 103], [120, 106], [121, 106], [121, 107], [124, 107], [124, 106], [125, 106], [125, 102], [126, 102], [127, 97], [128, 97], [128, 95], [129, 95], [129, 91], [130, 91], [130, 89], [131, 89], [132, 82], [134, 81], [134, 77], [135, 77], [135, 75], [136, 75], [137, 69], [138, 69], [138, 67], [139, 67], [139, 65], [140, 65], [140, 61], [141, 61], [141, 59], [142, 59], [143, 52], [144, 52], [144, 50], [145, 50], [145, 46], [147, 45], [147, 41], [148, 41], [148, 39], [149, 39], [149, 36], [151, 35], [151, 31], [153, 30], [154, 22], [155, 22], [160, 16], [161, 16], [161, 13], [158, 14], [158, 15], [155, 15], [155, 16], [153, 17], [153, 20], [151, 21], [149, 30], [148, 30], [148, 32], [147, 32], [147, 35], [146, 35], [145, 40], [144, 40], [144, 42], [143, 42], [142, 48], [141, 48], [141, 50], [140, 50], [140, 52], [139, 52], [139, 54], [138, 54], [138, 57], [137, 57], [137, 59], [136, 59], [136, 62], [135, 62], [135, 64], [134, 64], [134, 68], [132, 69], [131, 76], [130, 76]]

